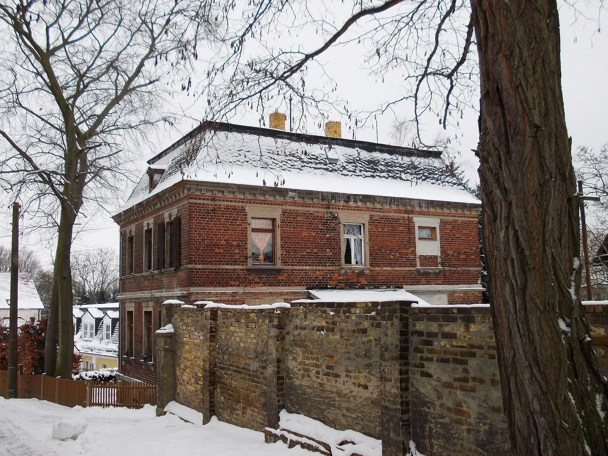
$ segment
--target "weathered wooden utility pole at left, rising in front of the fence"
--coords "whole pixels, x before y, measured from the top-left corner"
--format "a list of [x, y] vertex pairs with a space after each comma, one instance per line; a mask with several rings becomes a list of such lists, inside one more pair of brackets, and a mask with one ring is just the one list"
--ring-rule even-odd
[[13, 202], [13, 245], [10, 250], [9, 385], [7, 398], [17, 397], [17, 287], [19, 281], [19, 209]]

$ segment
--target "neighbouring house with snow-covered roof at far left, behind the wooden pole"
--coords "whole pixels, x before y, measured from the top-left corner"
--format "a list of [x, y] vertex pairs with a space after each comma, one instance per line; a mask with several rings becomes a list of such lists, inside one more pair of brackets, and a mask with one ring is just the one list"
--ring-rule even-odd
[[[19, 272], [17, 293], [17, 325], [26, 323], [30, 317], [40, 319], [44, 306], [29, 272]], [[9, 326], [9, 312], [10, 272], [0, 272], [0, 325]]]

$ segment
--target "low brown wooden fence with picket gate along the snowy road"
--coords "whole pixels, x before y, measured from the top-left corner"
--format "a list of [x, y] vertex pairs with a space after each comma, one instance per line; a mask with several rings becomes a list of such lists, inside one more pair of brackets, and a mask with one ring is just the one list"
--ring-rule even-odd
[[[0, 396], [7, 396], [9, 373], [0, 370]], [[144, 382], [64, 380], [46, 375], [19, 374], [17, 397], [74, 407], [128, 407], [156, 405], [156, 385]]]

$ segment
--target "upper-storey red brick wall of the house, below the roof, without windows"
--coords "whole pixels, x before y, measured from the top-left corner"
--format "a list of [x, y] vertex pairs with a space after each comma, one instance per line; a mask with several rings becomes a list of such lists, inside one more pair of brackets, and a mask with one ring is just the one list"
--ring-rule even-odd
[[[218, 193], [218, 192], [215, 192]], [[238, 193], [239, 192], [226, 192]], [[251, 194], [253, 195], [253, 194]], [[442, 258], [446, 268], [429, 274], [416, 270], [415, 229], [413, 216], [441, 218], [441, 254], [449, 255], [478, 246], [477, 209], [351, 206], [313, 204], [281, 198], [247, 199], [244, 197], [195, 195], [192, 192], [166, 206], [155, 206], [139, 216], [141, 222], [154, 219], [154, 227], [164, 220], [163, 213], [178, 207], [182, 219], [181, 263], [188, 275], [170, 277], [168, 271], [143, 272], [143, 224], [129, 219], [122, 224], [135, 237], [135, 274], [126, 275], [126, 236], [122, 236], [123, 293], [154, 292], [187, 287], [299, 287], [359, 288], [423, 284], [458, 285], [477, 283], [480, 266], [478, 250]], [[280, 273], [248, 271], [247, 207], [280, 209], [277, 219], [280, 232]], [[401, 209], [399, 209], [401, 208]], [[406, 209], [408, 208], [408, 209]], [[429, 210], [432, 209], [432, 210]], [[353, 271], [342, 268], [340, 224], [342, 214], [368, 217], [365, 226], [370, 244], [369, 267]], [[377, 248], [376, 248], [377, 247]], [[156, 261], [156, 235], [154, 261]], [[437, 258], [431, 258], [437, 265]], [[424, 260], [423, 260], [424, 263]], [[156, 264], [156, 263], [154, 263]], [[213, 268], [216, 266], [216, 268]], [[236, 268], [235, 268], [236, 267]], [[464, 268], [464, 269], [463, 269]], [[471, 270], [472, 269], [472, 270]], [[167, 275], [164, 280], [162, 275]], [[480, 299], [480, 297], [479, 297]]]

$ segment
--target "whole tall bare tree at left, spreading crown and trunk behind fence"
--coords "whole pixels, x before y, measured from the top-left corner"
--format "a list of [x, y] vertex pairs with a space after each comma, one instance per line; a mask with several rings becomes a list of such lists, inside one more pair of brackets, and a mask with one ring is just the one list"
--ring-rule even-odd
[[213, 13], [213, 3], [195, 0], [0, 4], [0, 177], [15, 198], [26, 200], [26, 212], [58, 230], [49, 375], [71, 375], [76, 218], [86, 202], [120, 187], [116, 179], [130, 157], [122, 150], [125, 137], [171, 122], [166, 95], [174, 85], [189, 89], [188, 65], [216, 29]]

